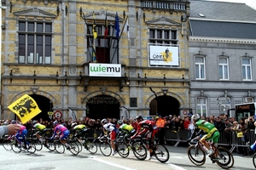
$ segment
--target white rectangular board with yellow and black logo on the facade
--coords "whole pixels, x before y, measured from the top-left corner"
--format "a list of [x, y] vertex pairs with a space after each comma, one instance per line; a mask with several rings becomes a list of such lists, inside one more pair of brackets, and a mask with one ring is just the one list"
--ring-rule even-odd
[[[150, 45], [150, 44], [149, 44]], [[178, 46], [149, 46], [149, 65], [178, 66]]]

